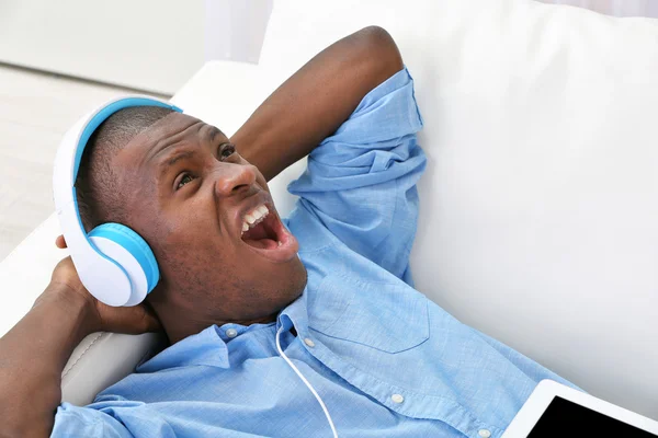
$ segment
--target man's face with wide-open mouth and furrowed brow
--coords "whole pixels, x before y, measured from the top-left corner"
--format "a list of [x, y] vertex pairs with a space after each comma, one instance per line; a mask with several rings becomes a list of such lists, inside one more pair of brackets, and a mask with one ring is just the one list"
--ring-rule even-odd
[[[217, 128], [172, 113], [131, 140], [113, 164], [123, 175], [129, 226], [158, 260], [161, 279], [149, 296], [157, 311], [173, 307], [208, 325], [249, 323], [273, 320], [302, 293], [306, 269], [296, 239], [263, 175]], [[262, 206], [269, 212], [259, 219]]]

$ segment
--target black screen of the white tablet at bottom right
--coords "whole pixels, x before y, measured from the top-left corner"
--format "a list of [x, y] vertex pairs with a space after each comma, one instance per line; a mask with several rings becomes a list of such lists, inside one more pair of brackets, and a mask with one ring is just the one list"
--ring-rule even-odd
[[[574, 434], [574, 435], [566, 435]], [[582, 435], [581, 435], [582, 434]], [[609, 417], [568, 400], [555, 396], [530, 431], [529, 438], [544, 437], [655, 438], [656, 435]]]

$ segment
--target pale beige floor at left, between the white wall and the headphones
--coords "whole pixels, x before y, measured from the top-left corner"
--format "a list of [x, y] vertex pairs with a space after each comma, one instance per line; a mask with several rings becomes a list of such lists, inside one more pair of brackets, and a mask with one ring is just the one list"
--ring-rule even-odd
[[53, 160], [64, 132], [126, 92], [0, 66], [0, 261], [54, 210]]

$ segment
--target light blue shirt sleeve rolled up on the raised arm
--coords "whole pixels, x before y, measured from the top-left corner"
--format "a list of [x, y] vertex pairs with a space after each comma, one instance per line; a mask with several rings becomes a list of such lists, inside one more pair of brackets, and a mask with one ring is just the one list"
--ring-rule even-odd
[[331, 233], [400, 278], [416, 235], [416, 183], [427, 163], [416, 136], [422, 124], [405, 68], [363, 97], [288, 185]]

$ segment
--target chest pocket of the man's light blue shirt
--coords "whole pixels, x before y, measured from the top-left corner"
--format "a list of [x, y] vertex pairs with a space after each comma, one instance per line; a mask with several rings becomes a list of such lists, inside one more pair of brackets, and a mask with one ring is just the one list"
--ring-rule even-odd
[[430, 337], [428, 299], [405, 284], [329, 275], [309, 290], [308, 310], [315, 331], [382, 351], [404, 351]]

